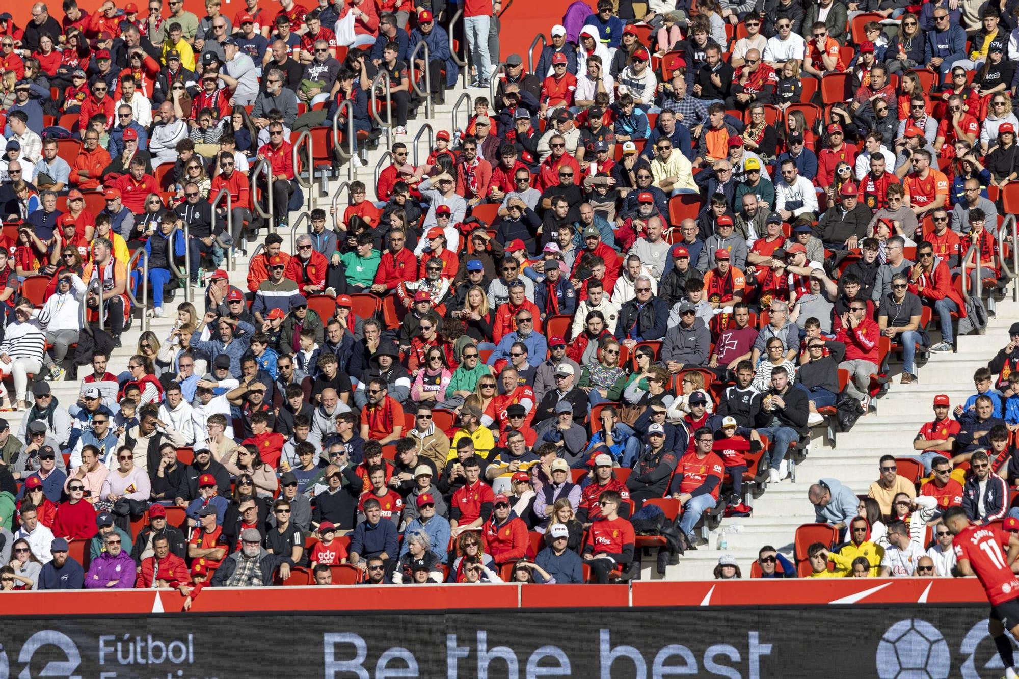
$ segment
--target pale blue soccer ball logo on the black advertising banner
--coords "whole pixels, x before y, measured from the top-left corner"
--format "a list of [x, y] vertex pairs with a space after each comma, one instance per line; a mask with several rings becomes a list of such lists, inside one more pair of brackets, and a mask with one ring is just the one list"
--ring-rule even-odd
[[877, 644], [879, 679], [948, 679], [949, 644], [937, 628], [923, 620], [900, 620]]

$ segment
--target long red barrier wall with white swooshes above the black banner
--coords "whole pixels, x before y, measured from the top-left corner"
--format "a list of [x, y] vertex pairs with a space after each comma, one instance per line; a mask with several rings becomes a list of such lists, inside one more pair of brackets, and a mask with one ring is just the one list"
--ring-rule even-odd
[[[986, 603], [975, 578], [824, 578], [819, 580], [714, 580], [704, 582], [634, 582], [626, 585], [432, 585], [207, 587], [192, 608], [202, 613], [263, 611], [450, 611], [541, 608], [656, 608], [699, 606], [815, 606], [830, 604]], [[65, 615], [149, 615], [176, 613], [183, 597], [176, 591], [128, 589], [104, 591], [12, 592], [0, 597], [0, 617]]]

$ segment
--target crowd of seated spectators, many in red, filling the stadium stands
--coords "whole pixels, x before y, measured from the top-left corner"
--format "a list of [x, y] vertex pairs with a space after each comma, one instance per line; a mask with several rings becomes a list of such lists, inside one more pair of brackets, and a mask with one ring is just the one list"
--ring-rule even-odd
[[[399, 138], [457, 81], [451, 5], [0, 14], [0, 409], [24, 411], [0, 420], [3, 589], [607, 582], [646, 550], [663, 571], [787, 479], [810, 427], [873, 412], [890, 352], [912, 383], [954, 320], [978, 327], [960, 278], [1001, 270], [1019, 33], [957, 4], [574, 3], [528, 72], [496, 69], [500, 3], [470, 0], [470, 80], [494, 97], [417, 166]], [[375, 200], [352, 182], [231, 285], [226, 251], [267, 225], [250, 173], [268, 164], [291, 223], [288, 140], [351, 116], [344, 144], [376, 144], [382, 72]], [[181, 284], [203, 308], [110, 365], [139, 249], [152, 315]], [[1007, 511], [1017, 342], [953, 418], [935, 399], [918, 494], [889, 456], [862, 501], [821, 479], [832, 539], [796, 565], [764, 547], [762, 574], [946, 574], [951, 536], [917, 558], [938, 511]]]

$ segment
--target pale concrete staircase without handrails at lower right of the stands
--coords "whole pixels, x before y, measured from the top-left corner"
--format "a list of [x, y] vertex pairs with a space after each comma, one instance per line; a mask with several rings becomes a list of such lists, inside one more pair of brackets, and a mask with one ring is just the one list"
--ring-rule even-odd
[[[1010, 291], [1011, 292], [1011, 291]], [[669, 567], [665, 579], [709, 580], [722, 554], [739, 561], [743, 577], [749, 577], [750, 566], [757, 551], [770, 544], [792, 560], [796, 528], [814, 520], [813, 506], [807, 500], [807, 489], [819, 478], [838, 478], [858, 493], [865, 493], [877, 479], [877, 461], [886, 454], [911, 455], [913, 438], [924, 422], [933, 417], [931, 404], [938, 394], [952, 399], [953, 408], [973, 393], [973, 372], [982, 366], [1006, 344], [1008, 328], [1019, 320], [1019, 303], [1011, 296], [998, 303], [997, 317], [990, 319], [985, 334], [958, 338], [958, 353], [930, 354], [919, 369], [919, 382], [900, 384], [901, 363], [892, 364], [895, 383], [886, 396], [874, 401], [875, 414], [865, 415], [847, 433], [836, 434], [835, 446], [825, 440], [823, 429], [815, 428], [810, 453], [796, 466], [796, 480], [787, 479], [767, 486], [754, 501], [753, 516], [723, 519], [711, 533], [708, 544], [688, 552], [679, 566]], [[931, 332], [936, 342], [940, 333]], [[725, 532], [725, 552], [718, 551], [718, 538]], [[645, 560], [642, 577], [657, 579], [653, 562]]]

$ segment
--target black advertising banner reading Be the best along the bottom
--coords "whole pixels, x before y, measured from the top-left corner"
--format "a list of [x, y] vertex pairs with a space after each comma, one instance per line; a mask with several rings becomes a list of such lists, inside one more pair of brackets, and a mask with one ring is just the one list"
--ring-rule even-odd
[[4, 618], [0, 679], [997, 678], [986, 615], [829, 606]]

